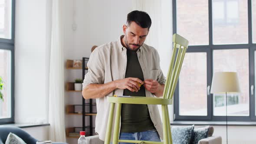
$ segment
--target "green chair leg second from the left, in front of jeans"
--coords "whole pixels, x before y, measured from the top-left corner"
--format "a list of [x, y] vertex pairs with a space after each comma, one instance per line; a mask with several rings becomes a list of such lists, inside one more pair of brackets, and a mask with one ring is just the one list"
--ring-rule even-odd
[[117, 103], [117, 108], [115, 113], [115, 128], [114, 128], [114, 135], [113, 135], [113, 144], [118, 144], [120, 119], [121, 119], [121, 103]]

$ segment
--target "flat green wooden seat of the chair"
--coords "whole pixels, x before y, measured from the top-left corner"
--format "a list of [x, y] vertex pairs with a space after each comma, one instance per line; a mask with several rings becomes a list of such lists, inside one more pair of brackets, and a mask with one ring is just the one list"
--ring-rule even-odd
[[172, 99], [156, 97], [114, 97], [108, 96], [108, 102], [122, 104], [172, 105]]

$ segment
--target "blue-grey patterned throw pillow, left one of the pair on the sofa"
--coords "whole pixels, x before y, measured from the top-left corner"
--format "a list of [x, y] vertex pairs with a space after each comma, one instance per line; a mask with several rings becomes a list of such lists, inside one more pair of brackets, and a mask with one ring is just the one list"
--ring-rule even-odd
[[173, 126], [171, 127], [171, 136], [173, 144], [190, 144], [193, 134], [194, 124], [192, 126]]

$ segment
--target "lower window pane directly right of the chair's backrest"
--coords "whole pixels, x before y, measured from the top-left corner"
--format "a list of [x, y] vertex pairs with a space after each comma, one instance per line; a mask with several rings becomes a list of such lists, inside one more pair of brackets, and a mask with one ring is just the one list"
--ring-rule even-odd
[[[207, 54], [187, 53], [180, 73], [180, 115], [207, 115]], [[193, 75], [193, 76], [190, 76]]]

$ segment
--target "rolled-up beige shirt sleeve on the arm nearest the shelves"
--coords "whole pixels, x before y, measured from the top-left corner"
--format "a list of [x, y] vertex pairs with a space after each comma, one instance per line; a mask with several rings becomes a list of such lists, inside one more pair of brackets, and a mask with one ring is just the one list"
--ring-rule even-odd
[[87, 63], [88, 72], [85, 74], [85, 79], [82, 83], [82, 89], [89, 84], [103, 84], [105, 76], [105, 66], [101, 55], [101, 48], [96, 48]]

